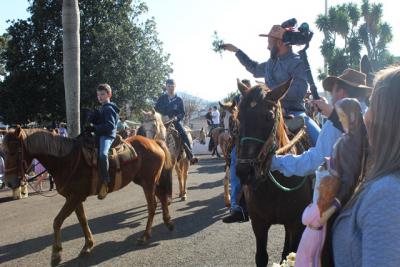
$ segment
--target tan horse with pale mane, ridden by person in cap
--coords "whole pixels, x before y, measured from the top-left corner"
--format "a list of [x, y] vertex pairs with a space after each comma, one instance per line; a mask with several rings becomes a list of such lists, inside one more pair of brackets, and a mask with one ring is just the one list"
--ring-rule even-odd
[[[187, 199], [186, 182], [189, 172], [189, 159], [183, 149], [183, 140], [178, 131], [169, 123], [168, 129], [165, 128], [161, 114], [154, 109], [151, 111], [142, 111], [144, 116], [142, 128], [147, 138], [163, 140], [167, 142], [169, 152], [171, 153], [172, 166], [175, 167], [179, 181], [179, 197], [185, 201]], [[188, 128], [185, 128], [189, 141], [192, 142], [192, 135]]]

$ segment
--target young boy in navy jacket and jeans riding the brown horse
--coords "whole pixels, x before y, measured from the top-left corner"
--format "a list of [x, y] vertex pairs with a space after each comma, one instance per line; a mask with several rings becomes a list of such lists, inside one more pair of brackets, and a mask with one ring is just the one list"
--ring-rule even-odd
[[90, 119], [87, 132], [94, 132], [99, 140], [99, 172], [103, 181], [98, 199], [104, 199], [108, 194], [108, 183], [110, 182], [108, 151], [117, 134], [117, 122], [119, 120], [119, 108], [110, 101], [112, 96], [111, 87], [108, 84], [100, 84], [97, 87], [97, 99], [101, 104], [98, 117]]

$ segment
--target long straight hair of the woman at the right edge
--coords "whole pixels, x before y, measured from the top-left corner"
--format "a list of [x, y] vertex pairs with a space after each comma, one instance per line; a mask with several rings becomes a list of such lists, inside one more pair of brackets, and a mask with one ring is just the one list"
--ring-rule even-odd
[[371, 96], [372, 119], [368, 125], [370, 162], [367, 179], [400, 170], [400, 67], [377, 74]]

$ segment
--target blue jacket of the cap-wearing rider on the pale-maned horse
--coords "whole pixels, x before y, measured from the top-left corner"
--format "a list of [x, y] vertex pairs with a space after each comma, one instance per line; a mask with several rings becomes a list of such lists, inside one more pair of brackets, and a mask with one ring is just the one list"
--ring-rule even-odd
[[185, 117], [182, 98], [177, 95], [174, 95], [172, 98], [169, 98], [167, 94], [161, 95], [157, 100], [155, 110], [163, 116], [168, 116], [170, 119], [176, 116], [178, 121]]

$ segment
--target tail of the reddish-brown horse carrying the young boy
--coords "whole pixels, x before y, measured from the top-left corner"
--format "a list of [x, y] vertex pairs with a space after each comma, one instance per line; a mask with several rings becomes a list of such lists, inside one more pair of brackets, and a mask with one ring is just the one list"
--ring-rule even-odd
[[164, 166], [161, 171], [160, 180], [157, 184], [156, 190], [161, 195], [167, 195], [168, 203], [171, 203], [172, 199], [172, 161], [171, 154], [169, 153], [168, 147], [162, 140], [156, 140], [157, 144], [161, 147], [165, 154]]

